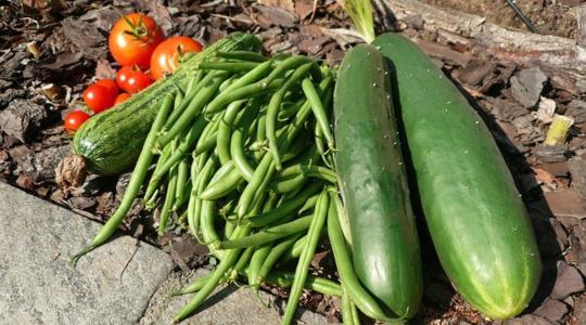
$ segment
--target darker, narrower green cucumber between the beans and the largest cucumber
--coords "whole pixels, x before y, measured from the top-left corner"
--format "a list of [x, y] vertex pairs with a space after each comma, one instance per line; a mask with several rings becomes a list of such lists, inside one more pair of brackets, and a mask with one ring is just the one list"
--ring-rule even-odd
[[335, 165], [358, 278], [408, 318], [421, 301], [421, 255], [387, 75], [371, 46], [344, 57], [334, 92]]

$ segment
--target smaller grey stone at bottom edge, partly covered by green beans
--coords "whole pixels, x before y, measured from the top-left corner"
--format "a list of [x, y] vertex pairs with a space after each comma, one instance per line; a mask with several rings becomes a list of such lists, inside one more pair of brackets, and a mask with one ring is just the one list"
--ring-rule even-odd
[[[169, 295], [206, 273], [205, 270], [198, 270], [194, 273], [171, 274], [154, 294], [140, 324], [170, 324], [175, 314], [192, 296], [169, 297]], [[181, 324], [280, 324], [283, 304], [279, 303], [275, 296], [264, 291], [259, 294], [260, 300], [267, 302], [268, 307], [262, 304], [254, 292], [246, 287], [221, 286], [208, 297], [198, 313]], [[302, 309], [297, 309], [297, 320], [300, 324], [329, 324], [322, 315]]]

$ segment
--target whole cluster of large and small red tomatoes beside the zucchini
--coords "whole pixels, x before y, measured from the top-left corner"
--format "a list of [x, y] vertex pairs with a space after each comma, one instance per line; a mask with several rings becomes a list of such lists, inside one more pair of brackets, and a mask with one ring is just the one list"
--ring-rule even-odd
[[[125, 15], [114, 24], [109, 48], [120, 68], [116, 80], [102, 79], [84, 91], [84, 102], [93, 114], [126, 101], [173, 73], [184, 53], [202, 51], [202, 44], [189, 37], [165, 39], [155, 21], [141, 13]], [[65, 129], [76, 131], [88, 118], [84, 110], [71, 112], [65, 116]]]

